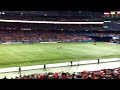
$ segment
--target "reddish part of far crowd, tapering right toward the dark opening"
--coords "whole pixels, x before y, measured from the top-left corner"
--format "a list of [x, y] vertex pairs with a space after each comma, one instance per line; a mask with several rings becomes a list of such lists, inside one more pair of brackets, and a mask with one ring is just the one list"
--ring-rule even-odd
[[91, 40], [81, 34], [51, 31], [0, 30], [1, 42], [49, 42], [49, 41], [84, 41]]

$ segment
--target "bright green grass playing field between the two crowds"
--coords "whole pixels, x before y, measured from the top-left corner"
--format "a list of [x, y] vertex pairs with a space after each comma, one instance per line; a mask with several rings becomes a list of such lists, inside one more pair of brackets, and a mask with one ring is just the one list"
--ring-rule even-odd
[[[61, 46], [61, 49], [57, 47]], [[117, 58], [120, 45], [105, 43], [44, 43], [0, 45], [0, 68], [69, 61]]]

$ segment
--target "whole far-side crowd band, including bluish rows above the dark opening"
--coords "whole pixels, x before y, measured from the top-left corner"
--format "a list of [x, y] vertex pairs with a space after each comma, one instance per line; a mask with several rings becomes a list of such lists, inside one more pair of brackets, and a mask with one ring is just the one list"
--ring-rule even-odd
[[91, 41], [90, 36], [120, 36], [120, 32], [90, 31], [43, 31], [43, 30], [0, 30], [0, 41], [4, 42], [79, 42]]

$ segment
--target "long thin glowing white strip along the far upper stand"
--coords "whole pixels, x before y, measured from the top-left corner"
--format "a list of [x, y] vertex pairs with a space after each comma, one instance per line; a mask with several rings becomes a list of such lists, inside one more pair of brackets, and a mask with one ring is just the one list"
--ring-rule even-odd
[[18, 23], [42, 23], [42, 24], [103, 24], [104, 22], [60, 22], [60, 21], [27, 21], [27, 20], [3, 20], [0, 22], [18, 22]]

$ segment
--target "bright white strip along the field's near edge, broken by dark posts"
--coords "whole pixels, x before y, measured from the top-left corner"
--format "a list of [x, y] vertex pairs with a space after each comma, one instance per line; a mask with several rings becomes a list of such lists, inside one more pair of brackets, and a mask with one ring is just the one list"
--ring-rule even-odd
[[[112, 58], [112, 59], [100, 59], [100, 62], [109, 62], [109, 61], [119, 61], [118, 58]], [[73, 62], [72, 65], [78, 65], [78, 64], [92, 64], [92, 63], [97, 63], [97, 60], [83, 60], [83, 61], [77, 61]], [[56, 63], [56, 64], [47, 64], [46, 68], [54, 68], [54, 67], [64, 67], [64, 66], [69, 66], [71, 65], [70, 62], [66, 63]], [[87, 65], [86, 65], [87, 66]], [[92, 65], [91, 65], [92, 66]], [[110, 66], [110, 65], [108, 65]], [[116, 65], [115, 65], [116, 66]], [[34, 65], [34, 66], [24, 66], [21, 67], [21, 70], [33, 70], [33, 69], [43, 69], [44, 65]], [[0, 73], [5, 73], [5, 72], [18, 72], [19, 67], [11, 67], [11, 68], [2, 68], [0, 69]], [[94, 68], [92, 68], [94, 69]], [[96, 69], [99, 69], [96, 67]]]

